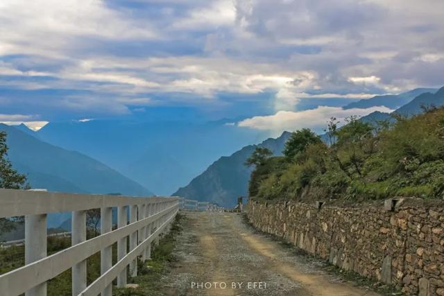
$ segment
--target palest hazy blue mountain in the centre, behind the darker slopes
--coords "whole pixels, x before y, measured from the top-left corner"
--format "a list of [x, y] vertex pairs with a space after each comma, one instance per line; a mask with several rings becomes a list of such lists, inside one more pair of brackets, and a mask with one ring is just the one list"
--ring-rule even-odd
[[157, 195], [185, 186], [217, 157], [266, 139], [264, 132], [239, 128], [230, 120], [147, 120], [55, 122], [35, 134], [89, 155]]

